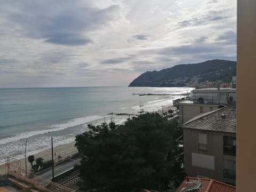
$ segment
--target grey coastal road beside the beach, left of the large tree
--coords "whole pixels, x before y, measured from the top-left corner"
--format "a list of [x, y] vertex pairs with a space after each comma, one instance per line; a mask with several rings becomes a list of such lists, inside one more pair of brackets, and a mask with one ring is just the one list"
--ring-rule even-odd
[[[78, 164], [81, 161], [80, 158], [77, 159], [70, 159], [66, 162], [60, 163], [59, 165], [54, 166], [54, 177], [65, 173], [74, 168], [75, 164]], [[52, 179], [52, 169], [47, 170], [46, 172], [37, 174], [39, 177], [51, 180]]]

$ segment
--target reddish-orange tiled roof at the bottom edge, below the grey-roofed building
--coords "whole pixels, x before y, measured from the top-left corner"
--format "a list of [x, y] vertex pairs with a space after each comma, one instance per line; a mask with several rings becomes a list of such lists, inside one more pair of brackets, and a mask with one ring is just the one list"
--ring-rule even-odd
[[[191, 185], [191, 181], [195, 181], [197, 178], [193, 177], [187, 177], [179, 186], [179, 188], [176, 190], [176, 192], [182, 191], [182, 188], [188, 187]], [[198, 190], [195, 190], [196, 192], [235, 192], [236, 187], [228, 185], [227, 183], [222, 183], [220, 181], [216, 181], [209, 178], [200, 178], [201, 180], [201, 187]]]

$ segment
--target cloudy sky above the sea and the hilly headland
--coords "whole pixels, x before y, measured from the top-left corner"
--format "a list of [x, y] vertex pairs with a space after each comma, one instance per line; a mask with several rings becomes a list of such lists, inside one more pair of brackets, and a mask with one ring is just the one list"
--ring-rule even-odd
[[0, 0], [0, 87], [127, 86], [236, 61], [234, 0]]

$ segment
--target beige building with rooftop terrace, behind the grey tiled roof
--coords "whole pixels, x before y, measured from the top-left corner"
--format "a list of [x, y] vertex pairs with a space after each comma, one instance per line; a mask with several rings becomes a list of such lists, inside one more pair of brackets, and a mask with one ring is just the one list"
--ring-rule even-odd
[[179, 124], [218, 108], [236, 105], [236, 89], [195, 89], [190, 100], [179, 102]]

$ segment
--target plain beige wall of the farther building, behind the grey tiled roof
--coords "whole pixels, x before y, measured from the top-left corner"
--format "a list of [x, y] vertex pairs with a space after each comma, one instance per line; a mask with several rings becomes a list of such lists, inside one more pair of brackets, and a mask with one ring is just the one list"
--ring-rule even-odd
[[191, 118], [194, 118], [197, 115], [200, 115], [200, 107], [203, 107], [203, 113], [207, 113], [211, 111], [211, 107], [213, 110], [218, 109], [217, 105], [199, 105], [199, 104], [184, 104], [179, 105], [179, 124], [182, 125], [186, 123]]

